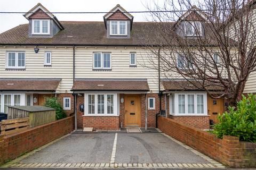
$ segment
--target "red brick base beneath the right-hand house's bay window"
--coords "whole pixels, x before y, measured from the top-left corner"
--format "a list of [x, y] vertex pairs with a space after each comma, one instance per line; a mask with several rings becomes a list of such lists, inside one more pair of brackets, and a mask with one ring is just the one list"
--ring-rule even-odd
[[210, 129], [209, 116], [172, 116], [173, 120], [198, 129]]

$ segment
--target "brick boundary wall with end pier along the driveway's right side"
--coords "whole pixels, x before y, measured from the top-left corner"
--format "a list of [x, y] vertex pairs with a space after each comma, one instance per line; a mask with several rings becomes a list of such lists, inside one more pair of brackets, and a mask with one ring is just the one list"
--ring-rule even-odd
[[256, 143], [241, 142], [238, 137], [214, 134], [158, 117], [158, 128], [171, 137], [230, 167], [256, 167]]

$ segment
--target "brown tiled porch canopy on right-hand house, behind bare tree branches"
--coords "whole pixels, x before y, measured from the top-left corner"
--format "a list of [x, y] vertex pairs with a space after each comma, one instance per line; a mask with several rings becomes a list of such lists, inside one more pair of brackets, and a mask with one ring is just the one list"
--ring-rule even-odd
[[[164, 87], [163, 91], [205, 91], [201, 81], [186, 79], [162, 79], [161, 83]], [[208, 91], [221, 92], [224, 90], [221, 85], [213, 83], [205, 83]]]

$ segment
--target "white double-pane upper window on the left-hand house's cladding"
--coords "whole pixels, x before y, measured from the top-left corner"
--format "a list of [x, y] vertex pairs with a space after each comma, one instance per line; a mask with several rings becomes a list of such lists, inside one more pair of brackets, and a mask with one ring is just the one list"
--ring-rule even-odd
[[25, 69], [25, 52], [7, 52], [7, 69]]

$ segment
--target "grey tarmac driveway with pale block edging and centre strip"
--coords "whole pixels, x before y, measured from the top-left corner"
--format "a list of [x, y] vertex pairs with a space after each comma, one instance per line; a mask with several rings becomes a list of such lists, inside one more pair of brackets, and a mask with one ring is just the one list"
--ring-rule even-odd
[[71, 133], [2, 167], [225, 168], [164, 133]]

